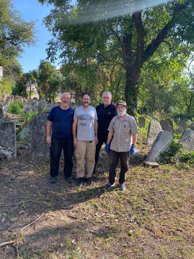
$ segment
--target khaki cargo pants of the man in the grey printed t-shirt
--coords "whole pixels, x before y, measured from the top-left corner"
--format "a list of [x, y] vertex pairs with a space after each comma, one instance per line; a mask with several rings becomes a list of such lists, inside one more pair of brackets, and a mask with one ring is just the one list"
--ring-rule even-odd
[[[95, 141], [92, 140], [78, 140], [78, 145], [75, 149], [75, 157], [77, 160], [77, 178], [84, 177], [89, 178], [92, 175], [95, 165], [95, 151], [96, 144]], [[84, 159], [85, 159], [85, 167], [84, 167]]]

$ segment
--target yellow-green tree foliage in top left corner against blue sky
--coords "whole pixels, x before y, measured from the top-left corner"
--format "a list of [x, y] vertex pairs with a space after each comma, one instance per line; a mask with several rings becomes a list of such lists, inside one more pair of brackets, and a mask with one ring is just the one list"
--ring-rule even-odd
[[12, 67], [24, 46], [35, 41], [35, 21], [25, 22], [11, 0], [0, 0], [0, 66]]

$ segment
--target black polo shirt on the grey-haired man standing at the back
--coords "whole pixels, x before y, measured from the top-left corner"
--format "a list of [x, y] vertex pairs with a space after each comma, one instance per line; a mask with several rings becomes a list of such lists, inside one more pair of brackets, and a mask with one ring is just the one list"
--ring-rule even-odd
[[115, 109], [115, 104], [109, 104], [107, 107], [104, 104], [96, 106], [96, 113], [98, 117], [98, 136], [107, 136], [109, 134], [108, 128], [113, 117], [118, 115]]

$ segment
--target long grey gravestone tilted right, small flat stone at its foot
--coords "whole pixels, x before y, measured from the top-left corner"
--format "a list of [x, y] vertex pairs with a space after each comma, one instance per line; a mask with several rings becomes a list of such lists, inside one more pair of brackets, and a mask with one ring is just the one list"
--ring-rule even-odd
[[172, 133], [169, 131], [160, 131], [156, 140], [154, 141], [152, 148], [148, 156], [146, 157], [147, 162], [157, 162], [159, 161], [160, 154], [169, 148], [169, 142], [173, 139]]

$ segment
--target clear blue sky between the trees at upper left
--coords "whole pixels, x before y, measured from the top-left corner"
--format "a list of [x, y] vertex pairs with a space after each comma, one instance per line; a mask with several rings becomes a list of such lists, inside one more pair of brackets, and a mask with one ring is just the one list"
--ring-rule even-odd
[[[38, 20], [36, 22], [36, 29], [39, 31], [36, 36], [38, 41], [36, 43], [36, 47], [25, 48], [25, 52], [23, 53], [23, 58], [19, 59], [19, 63], [22, 65], [24, 72], [28, 72], [29, 70], [38, 68], [40, 63], [40, 59], [46, 58], [45, 49], [47, 47], [46, 43], [49, 39], [51, 39], [50, 33], [45, 28], [44, 24], [42, 24], [43, 18], [49, 14], [51, 6], [41, 5], [37, 2], [37, 0], [14, 0], [15, 9], [19, 10], [22, 14], [22, 18], [25, 21], [30, 20]], [[57, 66], [58, 60], [54, 64]]]

